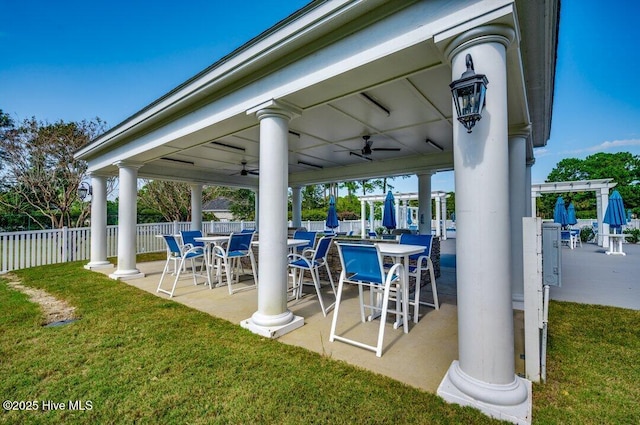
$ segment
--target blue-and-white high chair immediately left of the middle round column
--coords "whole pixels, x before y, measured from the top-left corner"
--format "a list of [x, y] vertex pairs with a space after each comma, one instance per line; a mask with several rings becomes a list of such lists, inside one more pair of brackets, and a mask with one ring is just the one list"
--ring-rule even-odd
[[[229, 235], [229, 242], [226, 246], [216, 245], [213, 247], [213, 254], [216, 259], [220, 260], [222, 273], [224, 270], [225, 277], [227, 279], [227, 286], [229, 287], [229, 294], [235, 292], [253, 289], [258, 285], [258, 276], [256, 274], [258, 267], [256, 266], [256, 259], [251, 249], [251, 242], [253, 241], [255, 233], [231, 233]], [[233, 290], [232, 285], [240, 281], [240, 267], [242, 258], [249, 258], [251, 261], [251, 271], [253, 273], [253, 285], [249, 285], [242, 289]]]

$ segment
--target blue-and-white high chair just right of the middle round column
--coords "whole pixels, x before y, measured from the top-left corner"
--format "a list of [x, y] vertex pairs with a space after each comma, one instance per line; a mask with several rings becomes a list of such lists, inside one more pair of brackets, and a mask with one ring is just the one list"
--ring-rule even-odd
[[332, 240], [333, 236], [323, 236], [320, 241], [318, 241], [318, 246], [315, 250], [306, 250], [302, 255], [297, 253], [289, 254], [288, 257], [289, 267], [300, 271], [298, 282], [294, 282], [293, 285], [295, 298], [298, 299], [302, 296], [302, 288], [304, 286], [304, 272], [308, 270], [309, 273], [311, 273], [313, 286], [316, 288], [318, 301], [320, 302], [320, 308], [322, 309], [322, 314], [324, 315], [324, 317], [327, 317], [327, 312], [335, 305], [335, 302], [327, 307], [324, 306], [324, 300], [322, 299], [322, 293], [320, 291], [321, 288], [319, 270], [320, 267], [323, 266], [326, 268], [327, 274], [329, 275], [329, 282], [331, 283], [331, 290], [333, 291], [333, 296], [335, 297], [336, 287], [333, 283], [333, 277], [331, 277], [329, 264], [327, 263], [327, 253], [329, 252]]

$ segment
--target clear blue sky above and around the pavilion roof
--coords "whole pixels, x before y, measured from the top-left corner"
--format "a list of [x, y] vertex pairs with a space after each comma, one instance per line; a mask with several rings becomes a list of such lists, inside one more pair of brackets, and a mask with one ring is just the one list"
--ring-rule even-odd
[[[109, 126], [307, 3], [0, 1], [0, 109], [16, 120], [100, 117]], [[563, 158], [640, 155], [640, 2], [607, 6], [562, 2], [551, 138], [535, 151], [534, 183]], [[417, 190], [415, 178], [393, 184]], [[432, 188], [453, 190], [453, 174], [434, 175]]]

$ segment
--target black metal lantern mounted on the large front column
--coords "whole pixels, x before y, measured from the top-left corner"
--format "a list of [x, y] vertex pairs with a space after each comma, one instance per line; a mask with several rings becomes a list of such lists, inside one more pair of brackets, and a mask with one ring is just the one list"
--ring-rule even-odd
[[459, 80], [455, 80], [451, 87], [453, 103], [456, 105], [458, 121], [471, 133], [471, 129], [482, 118], [482, 108], [485, 105], [485, 93], [489, 80], [484, 74], [476, 74], [473, 69], [473, 59], [467, 54], [465, 58], [467, 70]]

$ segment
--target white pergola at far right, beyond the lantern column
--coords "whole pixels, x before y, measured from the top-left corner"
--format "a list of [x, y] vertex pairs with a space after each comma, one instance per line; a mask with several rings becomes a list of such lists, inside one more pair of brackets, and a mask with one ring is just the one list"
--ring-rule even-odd
[[531, 212], [536, 217], [536, 198], [543, 193], [595, 192], [598, 220], [598, 245], [609, 246], [609, 225], [602, 220], [609, 206], [609, 191], [616, 187], [613, 179], [580, 180], [573, 182], [549, 182], [531, 185]]

